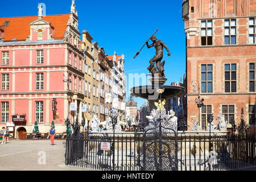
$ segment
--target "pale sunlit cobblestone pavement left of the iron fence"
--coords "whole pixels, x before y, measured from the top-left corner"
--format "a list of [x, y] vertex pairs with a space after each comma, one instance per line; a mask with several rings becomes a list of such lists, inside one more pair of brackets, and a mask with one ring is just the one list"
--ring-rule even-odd
[[[0, 144], [0, 170], [85, 171], [65, 166], [64, 141], [55, 140], [54, 146], [50, 140], [9, 140], [6, 144]], [[46, 156], [46, 160], [43, 156]]]

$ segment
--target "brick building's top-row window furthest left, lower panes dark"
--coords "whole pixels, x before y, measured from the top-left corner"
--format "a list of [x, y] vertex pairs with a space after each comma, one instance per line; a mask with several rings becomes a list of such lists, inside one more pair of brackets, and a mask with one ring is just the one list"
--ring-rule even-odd
[[212, 20], [201, 21], [201, 45], [212, 46]]

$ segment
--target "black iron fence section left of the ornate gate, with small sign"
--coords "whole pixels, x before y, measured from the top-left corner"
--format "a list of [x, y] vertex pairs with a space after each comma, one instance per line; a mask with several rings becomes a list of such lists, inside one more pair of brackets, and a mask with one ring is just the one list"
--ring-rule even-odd
[[138, 171], [142, 154], [141, 140], [139, 135], [70, 136], [66, 140], [65, 163], [102, 171]]

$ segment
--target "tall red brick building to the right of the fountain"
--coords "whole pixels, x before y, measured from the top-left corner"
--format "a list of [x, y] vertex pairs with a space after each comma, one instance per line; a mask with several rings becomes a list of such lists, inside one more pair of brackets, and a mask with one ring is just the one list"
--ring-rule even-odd
[[[184, 0], [187, 40], [187, 120], [199, 119], [195, 102], [200, 94], [200, 127], [207, 113], [226, 121], [252, 122], [256, 103], [256, 0]], [[217, 121], [216, 121], [217, 122]]]

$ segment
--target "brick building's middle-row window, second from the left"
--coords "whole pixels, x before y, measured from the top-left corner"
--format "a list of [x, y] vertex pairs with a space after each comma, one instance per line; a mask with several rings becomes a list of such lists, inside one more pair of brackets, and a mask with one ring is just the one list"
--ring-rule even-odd
[[237, 64], [225, 64], [225, 92], [237, 92]]

